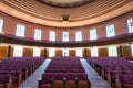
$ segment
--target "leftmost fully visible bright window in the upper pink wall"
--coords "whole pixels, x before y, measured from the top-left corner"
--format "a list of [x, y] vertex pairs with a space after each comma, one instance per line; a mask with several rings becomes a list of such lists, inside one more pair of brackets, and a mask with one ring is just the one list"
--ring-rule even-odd
[[17, 24], [16, 36], [24, 37], [25, 26], [21, 24]]

